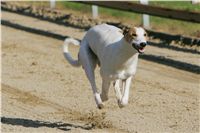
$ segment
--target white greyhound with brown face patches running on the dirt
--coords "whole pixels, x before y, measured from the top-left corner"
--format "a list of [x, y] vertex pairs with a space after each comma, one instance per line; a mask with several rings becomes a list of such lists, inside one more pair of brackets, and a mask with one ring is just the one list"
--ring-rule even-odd
[[[68, 52], [68, 44], [80, 45], [78, 60], [74, 60]], [[128, 103], [131, 79], [136, 73], [139, 53], [144, 52], [147, 34], [141, 27], [121, 29], [101, 24], [91, 28], [79, 41], [65, 39], [64, 56], [73, 66], [82, 66], [92, 86], [98, 108], [103, 108], [108, 100], [110, 84], [113, 83], [119, 107]], [[100, 66], [102, 91], [97, 89], [94, 70]], [[122, 89], [120, 89], [120, 87]]]

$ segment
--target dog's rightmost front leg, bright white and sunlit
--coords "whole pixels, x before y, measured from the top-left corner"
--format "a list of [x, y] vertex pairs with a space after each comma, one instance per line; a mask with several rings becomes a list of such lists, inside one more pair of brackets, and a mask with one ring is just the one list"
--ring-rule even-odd
[[132, 77], [129, 77], [125, 81], [122, 81], [122, 86], [123, 86], [123, 96], [120, 102], [118, 102], [119, 107], [124, 107], [125, 105], [128, 104], [128, 99], [129, 99], [129, 90], [130, 90], [130, 85], [131, 85], [131, 79]]

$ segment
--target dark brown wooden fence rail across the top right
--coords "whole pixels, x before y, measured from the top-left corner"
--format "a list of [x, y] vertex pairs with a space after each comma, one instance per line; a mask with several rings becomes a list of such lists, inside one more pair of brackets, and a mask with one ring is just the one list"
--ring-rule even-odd
[[142, 5], [132, 2], [121, 1], [79, 1], [79, 3], [98, 5], [107, 8], [113, 8], [128, 12], [149, 14], [158, 17], [183, 20], [188, 22], [200, 23], [200, 12], [191, 12], [185, 10], [175, 10], [170, 8]]

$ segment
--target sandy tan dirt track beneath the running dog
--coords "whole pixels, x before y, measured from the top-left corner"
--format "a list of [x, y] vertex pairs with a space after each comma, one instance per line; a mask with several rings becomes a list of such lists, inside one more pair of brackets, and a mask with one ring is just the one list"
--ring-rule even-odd
[[[80, 39], [85, 34], [12, 15], [3, 12], [2, 18]], [[140, 59], [129, 105], [120, 109], [110, 88], [109, 101], [98, 110], [83, 69], [64, 59], [62, 41], [6, 26], [1, 30], [2, 132], [199, 132], [199, 75]], [[76, 56], [78, 47], [70, 51]], [[197, 54], [153, 46], [146, 53], [199, 65]]]

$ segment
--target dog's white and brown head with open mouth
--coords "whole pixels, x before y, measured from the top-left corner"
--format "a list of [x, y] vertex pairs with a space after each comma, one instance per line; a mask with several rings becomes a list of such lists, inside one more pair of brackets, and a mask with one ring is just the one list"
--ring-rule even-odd
[[147, 45], [147, 33], [141, 27], [123, 29], [125, 40], [133, 46], [139, 53], [144, 53]]

